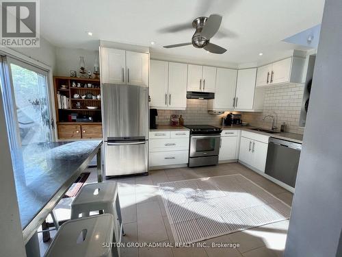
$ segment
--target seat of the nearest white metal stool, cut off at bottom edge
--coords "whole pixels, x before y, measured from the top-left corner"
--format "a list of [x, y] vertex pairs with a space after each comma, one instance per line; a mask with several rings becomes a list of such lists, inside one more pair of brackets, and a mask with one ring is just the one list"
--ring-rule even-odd
[[113, 230], [114, 219], [109, 213], [66, 221], [44, 256], [112, 257]]

